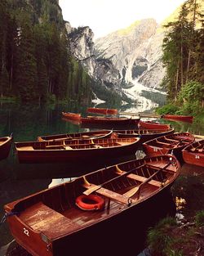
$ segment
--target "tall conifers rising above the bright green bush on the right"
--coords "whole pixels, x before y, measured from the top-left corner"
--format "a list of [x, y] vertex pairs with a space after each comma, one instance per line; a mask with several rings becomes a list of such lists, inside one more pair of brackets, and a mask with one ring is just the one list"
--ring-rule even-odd
[[[170, 101], [178, 100], [180, 90], [189, 80], [203, 84], [204, 23], [201, 21], [201, 10], [195, 0], [187, 0], [180, 9], [178, 20], [165, 25], [162, 61], [166, 77], [162, 87], [166, 88]], [[198, 22], [199, 29], [196, 26]], [[196, 94], [193, 93], [193, 96], [196, 97]]]

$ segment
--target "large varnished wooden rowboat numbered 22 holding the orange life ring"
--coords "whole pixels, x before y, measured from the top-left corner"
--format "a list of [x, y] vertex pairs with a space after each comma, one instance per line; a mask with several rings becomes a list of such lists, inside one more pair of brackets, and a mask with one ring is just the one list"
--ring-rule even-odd
[[6, 204], [5, 218], [34, 256], [126, 255], [134, 251], [132, 227], [147, 222], [141, 211], [155, 208], [179, 174], [174, 155], [131, 160]]

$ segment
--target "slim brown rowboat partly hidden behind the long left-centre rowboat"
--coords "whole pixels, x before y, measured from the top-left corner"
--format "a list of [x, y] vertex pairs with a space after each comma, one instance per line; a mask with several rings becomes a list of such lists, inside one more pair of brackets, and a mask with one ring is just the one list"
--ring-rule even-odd
[[59, 141], [65, 139], [71, 140], [87, 140], [87, 139], [95, 139], [102, 137], [110, 137], [113, 130], [98, 130], [92, 132], [76, 132], [76, 133], [63, 133], [63, 134], [54, 134], [54, 135], [45, 135], [38, 136], [38, 141]]

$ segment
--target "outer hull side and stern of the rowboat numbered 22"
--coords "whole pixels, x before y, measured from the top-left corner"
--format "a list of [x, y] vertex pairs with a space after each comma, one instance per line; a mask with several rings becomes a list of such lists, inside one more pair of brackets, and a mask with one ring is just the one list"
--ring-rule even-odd
[[[106, 255], [107, 251], [108, 254], [113, 255], [134, 256], [144, 248], [144, 237], [148, 227], [152, 227], [170, 212], [174, 216], [175, 204], [170, 189], [171, 186], [166, 186], [161, 193], [128, 211], [123, 211], [95, 226], [63, 236], [59, 240], [53, 240], [51, 245], [42, 240], [40, 233], [26, 227], [16, 216], [7, 218], [7, 222], [16, 242], [33, 256], [68, 256], [69, 254], [95, 256]], [[151, 209], [151, 218], [149, 218], [149, 209]], [[132, 235], [135, 233], [135, 228], [140, 233], [137, 237], [137, 245], [135, 245], [135, 236]], [[26, 236], [24, 231], [29, 231], [29, 236]]]

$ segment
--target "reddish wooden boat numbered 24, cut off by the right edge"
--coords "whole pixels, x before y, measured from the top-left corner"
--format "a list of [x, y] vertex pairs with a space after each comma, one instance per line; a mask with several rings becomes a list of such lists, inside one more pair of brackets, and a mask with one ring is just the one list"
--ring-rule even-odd
[[182, 154], [185, 163], [204, 167], [204, 140], [186, 146]]

